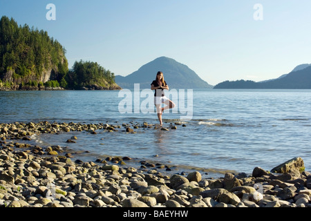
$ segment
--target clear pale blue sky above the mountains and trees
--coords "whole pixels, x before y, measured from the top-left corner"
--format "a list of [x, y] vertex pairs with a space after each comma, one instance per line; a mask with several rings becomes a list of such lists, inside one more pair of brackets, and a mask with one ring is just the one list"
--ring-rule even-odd
[[[55, 21], [46, 19], [48, 3]], [[82, 59], [126, 76], [166, 56], [212, 85], [273, 79], [310, 64], [310, 8], [310, 0], [0, 0], [0, 16], [57, 39], [69, 68]]]

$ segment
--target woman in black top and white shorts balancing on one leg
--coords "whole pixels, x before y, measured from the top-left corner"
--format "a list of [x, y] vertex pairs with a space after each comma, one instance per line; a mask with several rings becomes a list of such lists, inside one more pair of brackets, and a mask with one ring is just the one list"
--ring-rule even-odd
[[[162, 72], [159, 71], [157, 73], [156, 80], [152, 81], [151, 90], [155, 90], [154, 104], [156, 105], [158, 119], [159, 119], [160, 125], [162, 126], [163, 111], [170, 109], [170, 108], [175, 108], [175, 104], [170, 99], [168, 99], [164, 94], [164, 90], [169, 90], [169, 86], [167, 85], [167, 82], [164, 81]], [[162, 104], [166, 104], [166, 106], [162, 107]]]

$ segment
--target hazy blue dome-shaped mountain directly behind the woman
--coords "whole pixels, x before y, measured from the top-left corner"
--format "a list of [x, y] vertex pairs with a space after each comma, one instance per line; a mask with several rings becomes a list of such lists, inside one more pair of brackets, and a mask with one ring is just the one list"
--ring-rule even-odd
[[213, 87], [203, 81], [194, 70], [169, 57], [158, 57], [126, 77], [117, 75], [115, 76], [115, 83], [122, 88], [133, 88], [134, 84], [140, 84], [140, 88], [150, 88], [158, 71], [162, 71], [169, 88]]

